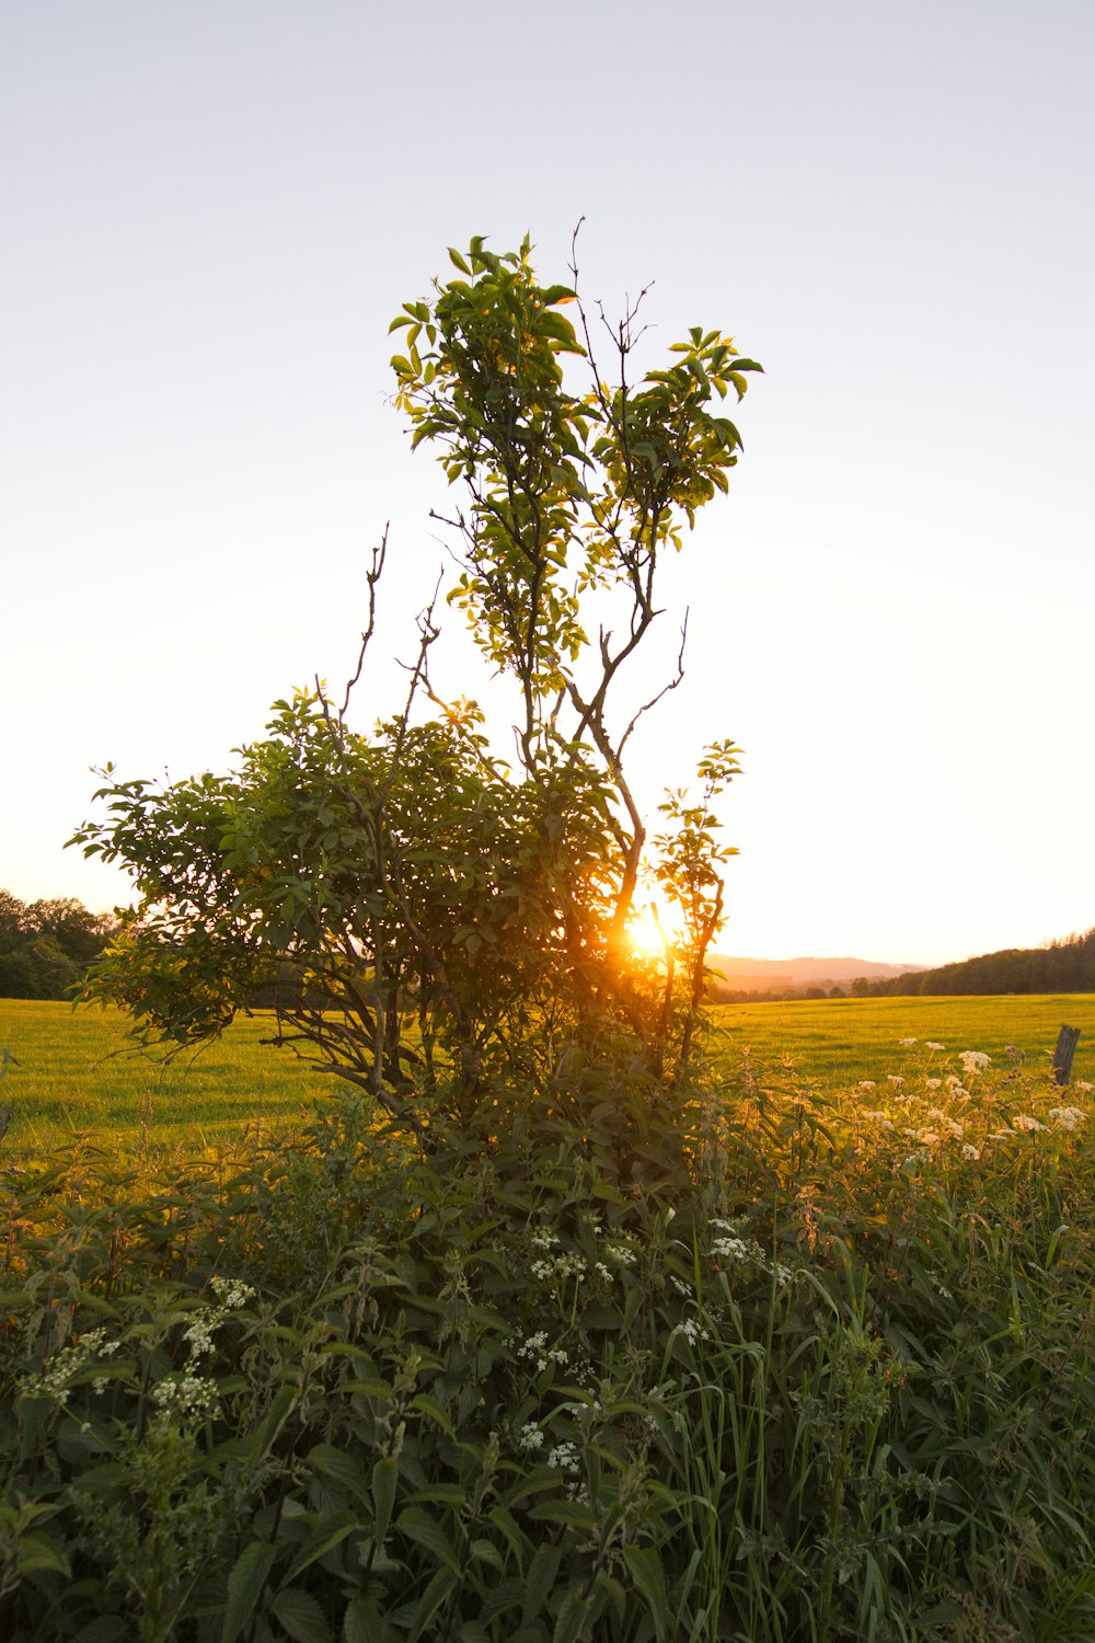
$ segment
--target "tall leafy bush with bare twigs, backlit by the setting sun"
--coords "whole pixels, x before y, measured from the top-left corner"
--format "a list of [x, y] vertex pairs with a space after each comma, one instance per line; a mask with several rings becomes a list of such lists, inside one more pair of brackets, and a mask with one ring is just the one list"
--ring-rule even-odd
[[[731, 854], [712, 807], [737, 749], [706, 751], [699, 802], [670, 794], [650, 851], [624, 752], [681, 657], [645, 703], [616, 698], [660, 614], [667, 554], [737, 462], [722, 401], [760, 370], [696, 327], [632, 384], [637, 304], [606, 325], [602, 373], [576, 266], [540, 284], [529, 240], [499, 256], [474, 238], [450, 258], [458, 278], [392, 324], [396, 404], [461, 498], [448, 601], [515, 688], [514, 759], [478, 703], [435, 688], [435, 600], [402, 711], [373, 734], [346, 720], [350, 687], [338, 706], [317, 680], [274, 705], [227, 775], [161, 787], [108, 766], [107, 818], [74, 838], [138, 894], [85, 997], [167, 1043], [266, 997], [286, 1040], [422, 1142], [443, 1117], [496, 1125], [530, 1089], [588, 1104], [591, 1066], [667, 1098], [686, 1086]], [[384, 544], [351, 683], [383, 568]], [[629, 940], [647, 882], [683, 914], [657, 964]]]

